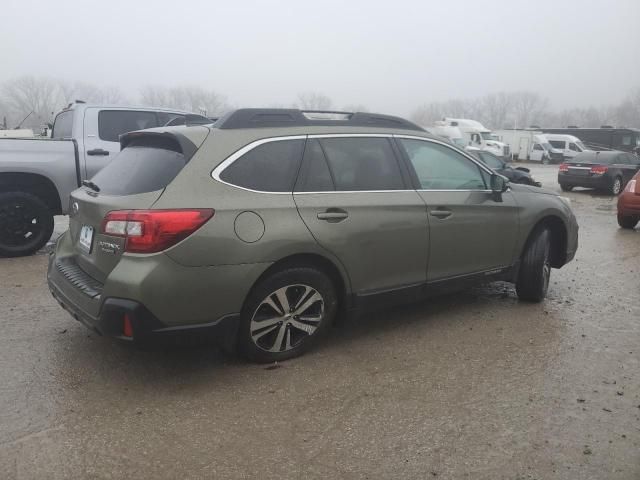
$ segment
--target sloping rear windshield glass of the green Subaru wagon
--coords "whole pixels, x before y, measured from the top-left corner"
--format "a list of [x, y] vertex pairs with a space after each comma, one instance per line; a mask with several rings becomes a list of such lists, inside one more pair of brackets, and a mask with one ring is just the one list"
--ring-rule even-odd
[[166, 187], [185, 166], [180, 145], [169, 138], [131, 141], [91, 181], [105, 195], [135, 195]]

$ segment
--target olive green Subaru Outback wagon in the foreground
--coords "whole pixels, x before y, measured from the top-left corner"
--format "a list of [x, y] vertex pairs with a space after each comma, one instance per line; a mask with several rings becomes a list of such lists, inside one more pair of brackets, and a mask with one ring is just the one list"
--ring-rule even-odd
[[121, 137], [73, 192], [53, 296], [105, 335], [209, 332], [248, 358], [310, 348], [338, 311], [514, 282], [540, 301], [578, 225], [406, 120], [241, 109], [215, 125]]

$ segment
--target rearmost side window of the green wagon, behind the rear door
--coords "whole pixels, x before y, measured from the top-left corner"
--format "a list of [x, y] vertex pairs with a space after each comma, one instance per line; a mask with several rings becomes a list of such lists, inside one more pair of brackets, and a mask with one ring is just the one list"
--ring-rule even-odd
[[224, 169], [220, 178], [261, 192], [291, 192], [298, 175], [304, 140], [277, 140], [245, 153]]

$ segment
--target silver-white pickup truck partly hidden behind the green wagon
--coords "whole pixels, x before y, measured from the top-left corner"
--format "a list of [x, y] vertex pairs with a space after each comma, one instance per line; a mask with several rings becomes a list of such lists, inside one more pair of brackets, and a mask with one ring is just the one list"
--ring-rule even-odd
[[76, 102], [55, 118], [51, 139], [0, 138], [0, 256], [29, 255], [67, 213], [69, 194], [120, 151], [133, 130], [211, 120], [187, 112]]

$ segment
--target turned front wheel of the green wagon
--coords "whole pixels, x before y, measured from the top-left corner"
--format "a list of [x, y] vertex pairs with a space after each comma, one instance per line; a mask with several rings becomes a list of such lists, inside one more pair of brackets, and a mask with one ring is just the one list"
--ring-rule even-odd
[[516, 282], [516, 293], [520, 300], [541, 302], [546, 297], [551, 276], [550, 240], [549, 230], [542, 228], [529, 242], [522, 256]]

